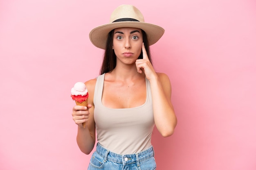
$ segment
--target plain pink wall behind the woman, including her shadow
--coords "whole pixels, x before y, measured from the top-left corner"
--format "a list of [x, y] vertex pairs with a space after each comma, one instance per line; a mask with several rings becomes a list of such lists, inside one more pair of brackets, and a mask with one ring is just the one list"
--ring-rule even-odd
[[254, 0], [0, 0], [0, 169], [87, 168], [70, 89], [99, 74], [90, 30], [127, 3], [166, 30], [151, 49], [178, 124], [153, 133], [157, 169], [255, 170]]

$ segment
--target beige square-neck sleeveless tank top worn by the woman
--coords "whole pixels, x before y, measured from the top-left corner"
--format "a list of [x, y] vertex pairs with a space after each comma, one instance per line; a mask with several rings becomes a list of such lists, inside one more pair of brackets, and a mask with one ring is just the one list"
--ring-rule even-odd
[[94, 121], [97, 140], [113, 153], [138, 153], [151, 146], [155, 126], [150, 82], [146, 79], [146, 102], [134, 108], [111, 109], [102, 102], [105, 74], [97, 77], [94, 91]]

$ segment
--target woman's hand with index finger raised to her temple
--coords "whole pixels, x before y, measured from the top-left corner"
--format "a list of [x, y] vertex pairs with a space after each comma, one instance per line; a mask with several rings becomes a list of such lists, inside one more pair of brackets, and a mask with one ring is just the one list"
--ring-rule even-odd
[[146, 75], [146, 78], [148, 80], [150, 80], [151, 78], [153, 78], [153, 76], [157, 76], [153, 65], [150, 63], [149, 59], [148, 59], [148, 54], [146, 52], [144, 43], [142, 43], [142, 52], [143, 52], [143, 59], [137, 59], [136, 60], [136, 67], [138, 70], [138, 73], [142, 73], [144, 72], [144, 74]]

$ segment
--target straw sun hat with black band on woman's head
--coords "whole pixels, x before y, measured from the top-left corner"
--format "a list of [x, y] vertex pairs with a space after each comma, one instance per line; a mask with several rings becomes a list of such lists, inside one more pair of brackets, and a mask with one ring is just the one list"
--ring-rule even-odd
[[164, 28], [144, 22], [142, 13], [132, 5], [121, 5], [111, 14], [110, 23], [98, 26], [89, 34], [92, 44], [105, 49], [108, 33], [115, 28], [131, 27], [140, 28], [146, 32], [148, 44], [155, 44], [164, 34]]

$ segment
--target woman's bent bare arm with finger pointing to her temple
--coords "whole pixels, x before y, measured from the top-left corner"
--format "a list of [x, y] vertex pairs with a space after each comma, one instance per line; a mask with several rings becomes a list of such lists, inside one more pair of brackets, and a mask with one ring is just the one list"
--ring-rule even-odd
[[177, 124], [177, 118], [171, 103], [171, 83], [164, 73], [156, 73], [148, 59], [144, 44], [142, 44], [143, 59], [137, 59], [137, 71], [144, 72], [150, 81], [153, 99], [155, 125], [164, 137], [171, 136]]

